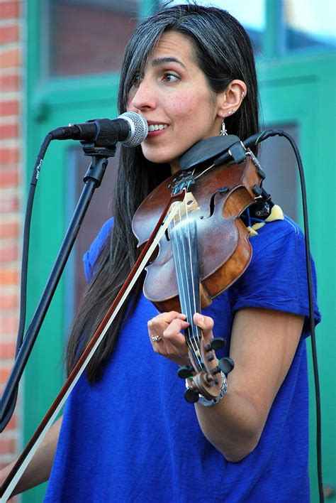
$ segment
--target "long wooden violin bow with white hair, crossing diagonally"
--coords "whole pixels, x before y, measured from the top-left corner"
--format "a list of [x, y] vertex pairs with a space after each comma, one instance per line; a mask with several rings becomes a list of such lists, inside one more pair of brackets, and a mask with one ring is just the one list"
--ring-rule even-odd
[[[111, 307], [108, 309], [108, 312], [104, 316], [96, 332], [94, 332], [94, 335], [91, 337], [91, 340], [86, 346], [81, 357], [79, 357], [77, 364], [72, 369], [69, 377], [67, 377], [65, 384], [62, 386], [62, 389], [55, 398], [55, 401], [52, 403], [52, 406], [50, 406], [50, 409], [47, 411], [45, 417], [40, 422], [40, 425], [36, 429], [35, 433], [30, 438], [28, 444], [26, 445], [26, 448], [16, 460], [16, 463], [13, 465], [11, 472], [9, 472], [9, 475], [6, 477], [6, 480], [4, 480], [4, 484], [0, 489], [0, 503], [5, 503], [7, 499], [11, 497], [11, 493], [18, 484], [18, 481], [21, 479], [23, 472], [25, 472], [26, 468], [28, 467], [30, 460], [33, 458], [33, 455], [38, 450], [40, 444], [43, 441], [43, 438], [45, 438], [47, 431], [49, 431], [52, 423], [54, 423], [58, 413], [60, 413], [62, 407], [64, 406], [65, 401], [67, 401], [69, 394], [79, 380], [79, 377], [81, 377], [81, 375], [83, 374], [86, 366], [91, 360], [91, 357], [94, 355], [94, 352], [103, 340], [103, 337], [105, 337], [108, 328], [110, 328], [111, 323], [113, 323], [114, 318], [116, 318], [118, 311], [121, 309], [121, 306], [128, 297], [128, 294], [135, 285], [135, 282], [138, 280], [140, 274], [145, 269], [147, 262], [150, 260], [150, 257], [154, 253], [160, 239], [169, 227], [170, 222], [179, 211], [183, 198], [184, 191], [181, 191], [180, 193], [177, 193], [175, 195], [171, 195], [169, 202], [162, 212], [161, 217], [159, 217], [155, 229], [153, 230], [150, 238], [147, 240], [145, 246], [143, 247], [137, 261], [135, 261], [135, 264], [131, 269], [130, 274], [128, 274], [128, 277], [121, 287], [121, 290], [111, 304]], [[170, 211], [168, 213], [169, 208]], [[166, 215], [167, 218], [164, 221]]]

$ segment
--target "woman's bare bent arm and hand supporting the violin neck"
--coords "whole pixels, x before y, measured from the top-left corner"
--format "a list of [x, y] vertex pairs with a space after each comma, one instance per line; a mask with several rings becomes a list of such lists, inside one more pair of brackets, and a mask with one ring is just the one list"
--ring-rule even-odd
[[[211, 340], [213, 320], [201, 315], [195, 315], [194, 320], [206, 340]], [[196, 404], [201, 430], [227, 460], [240, 461], [257, 445], [291, 366], [302, 327], [303, 317], [290, 313], [256, 308], [237, 311], [230, 342], [235, 369], [228, 374], [228, 393], [213, 406]], [[186, 364], [184, 328], [186, 322], [179, 313], [153, 318], [150, 335], [162, 337], [152, 342], [155, 351]]]

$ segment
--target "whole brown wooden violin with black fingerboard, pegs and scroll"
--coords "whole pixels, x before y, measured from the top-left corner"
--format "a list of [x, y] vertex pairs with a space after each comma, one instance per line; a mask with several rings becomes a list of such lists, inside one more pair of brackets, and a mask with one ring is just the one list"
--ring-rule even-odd
[[240, 220], [247, 207], [261, 195], [264, 174], [257, 159], [247, 151], [238, 164], [181, 171], [161, 183], [142, 202], [133, 218], [133, 232], [143, 247], [164, 205], [174, 193], [185, 192], [184, 202], [145, 268], [145, 296], [159, 311], [178, 310], [186, 315], [185, 330], [191, 365], [180, 367], [187, 379], [186, 401], [200, 395], [216, 403], [226, 392], [226, 376], [233, 360], [215, 364], [214, 351], [225, 341], [203, 340], [193, 315], [211, 304], [250, 264], [249, 230]]

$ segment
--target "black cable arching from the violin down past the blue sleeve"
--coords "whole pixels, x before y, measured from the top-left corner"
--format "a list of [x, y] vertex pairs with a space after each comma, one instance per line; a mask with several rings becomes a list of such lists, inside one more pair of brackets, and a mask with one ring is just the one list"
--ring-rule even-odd
[[316, 458], [318, 467], [318, 494], [320, 503], [323, 503], [323, 477], [322, 477], [322, 443], [321, 443], [321, 401], [320, 401], [320, 379], [318, 377], [318, 357], [316, 349], [316, 337], [315, 337], [315, 323], [314, 323], [314, 303], [313, 303], [313, 279], [311, 271], [310, 262], [310, 238], [309, 238], [309, 226], [308, 226], [308, 205], [307, 205], [307, 193], [306, 193], [306, 181], [303, 173], [303, 164], [301, 160], [300, 152], [294, 139], [283, 131], [282, 129], [267, 129], [267, 131], [262, 131], [262, 133], [254, 134], [250, 136], [246, 141], [244, 141], [245, 146], [257, 146], [261, 141], [269, 138], [270, 136], [284, 136], [296, 156], [296, 162], [298, 163], [298, 172], [300, 174], [301, 182], [301, 196], [303, 205], [303, 227], [305, 231], [305, 246], [306, 246], [306, 268], [307, 268], [307, 280], [308, 280], [308, 298], [309, 298], [309, 317], [310, 317], [310, 340], [312, 349], [312, 359], [313, 359], [313, 374], [314, 374], [314, 384], [315, 384], [315, 403], [316, 403]]

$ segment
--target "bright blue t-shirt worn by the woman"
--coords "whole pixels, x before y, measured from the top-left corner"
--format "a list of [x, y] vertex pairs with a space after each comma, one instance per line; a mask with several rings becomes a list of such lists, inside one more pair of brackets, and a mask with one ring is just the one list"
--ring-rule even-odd
[[[84, 257], [88, 279], [110, 229], [108, 222]], [[226, 348], [241, 308], [308, 317], [304, 241], [296, 224], [270, 222], [251, 243], [245, 273], [203, 310]], [[177, 365], [152, 350], [147, 321], [156, 313], [141, 296], [103, 379], [93, 387], [84, 375], [79, 379], [65, 406], [45, 502], [308, 502], [306, 325], [257, 447], [229, 463], [184, 401]]]

